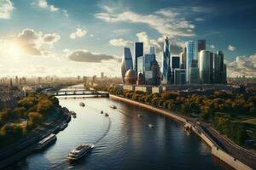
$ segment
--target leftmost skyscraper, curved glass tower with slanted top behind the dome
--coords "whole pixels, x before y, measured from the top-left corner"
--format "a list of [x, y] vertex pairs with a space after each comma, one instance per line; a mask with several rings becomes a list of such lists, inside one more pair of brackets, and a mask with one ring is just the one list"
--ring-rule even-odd
[[122, 78], [124, 83], [125, 83], [125, 73], [130, 69], [133, 69], [131, 50], [130, 48], [124, 48], [124, 55], [121, 62], [121, 73], [122, 73]]

